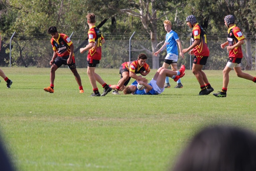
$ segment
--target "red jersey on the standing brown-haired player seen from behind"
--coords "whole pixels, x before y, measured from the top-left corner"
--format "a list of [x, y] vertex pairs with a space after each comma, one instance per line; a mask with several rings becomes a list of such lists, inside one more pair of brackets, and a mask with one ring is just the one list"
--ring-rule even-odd
[[92, 28], [88, 31], [88, 42], [94, 42], [94, 47], [90, 48], [88, 52], [88, 59], [101, 60], [101, 40], [104, 37], [101, 34], [101, 31], [96, 28], [96, 26], [92, 26]]

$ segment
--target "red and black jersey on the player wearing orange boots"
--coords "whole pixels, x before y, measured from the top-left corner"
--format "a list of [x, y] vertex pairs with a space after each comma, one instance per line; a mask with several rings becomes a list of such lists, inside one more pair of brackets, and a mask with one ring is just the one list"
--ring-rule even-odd
[[[56, 51], [59, 57], [69, 56], [70, 55], [70, 45], [72, 41], [66, 34], [58, 33], [58, 39], [51, 39], [52, 49]], [[74, 53], [73, 55], [74, 56]]]

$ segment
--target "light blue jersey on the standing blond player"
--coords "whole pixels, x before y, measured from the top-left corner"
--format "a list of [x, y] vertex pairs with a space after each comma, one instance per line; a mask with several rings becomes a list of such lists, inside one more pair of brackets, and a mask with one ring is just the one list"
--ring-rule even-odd
[[177, 40], [180, 40], [178, 34], [170, 31], [165, 36], [167, 54], [176, 54], [178, 56]]

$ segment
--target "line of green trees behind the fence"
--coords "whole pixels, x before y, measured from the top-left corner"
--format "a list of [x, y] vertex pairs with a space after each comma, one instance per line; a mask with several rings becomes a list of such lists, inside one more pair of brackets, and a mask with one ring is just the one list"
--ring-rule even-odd
[[[162, 46], [166, 19], [172, 22], [180, 39], [189, 41], [191, 30], [186, 26], [186, 16], [193, 14], [208, 35], [218, 37], [226, 36], [224, 16], [232, 14], [246, 37], [244, 56], [252, 58], [253, 48], [248, 42], [255, 38], [254, 0], [1, 0], [0, 32], [2, 38], [10, 38], [16, 32], [15, 39], [22, 39], [48, 36], [48, 27], [56, 26], [59, 32], [75, 31], [76, 37], [85, 40], [88, 12], [96, 15], [103, 35], [131, 35], [136, 31], [141, 39], [150, 39], [151, 52]], [[152, 58], [152, 68], [158, 68], [159, 57]]]

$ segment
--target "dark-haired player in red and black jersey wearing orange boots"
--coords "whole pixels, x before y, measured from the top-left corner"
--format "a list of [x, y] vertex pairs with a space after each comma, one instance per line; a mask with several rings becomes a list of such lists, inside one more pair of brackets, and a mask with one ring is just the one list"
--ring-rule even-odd
[[54, 93], [54, 79], [55, 71], [64, 65], [68, 65], [72, 73], [76, 78], [76, 82], [79, 85], [80, 93], [84, 93], [82, 81], [80, 75], [76, 70], [75, 56], [74, 56], [74, 45], [66, 34], [58, 33], [55, 26], [48, 28], [48, 34], [51, 34], [51, 44], [53, 49], [52, 60], [50, 61], [51, 72], [50, 72], [50, 86], [44, 88], [44, 91]]

